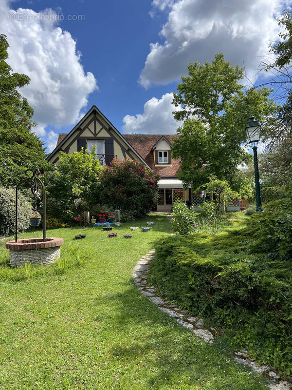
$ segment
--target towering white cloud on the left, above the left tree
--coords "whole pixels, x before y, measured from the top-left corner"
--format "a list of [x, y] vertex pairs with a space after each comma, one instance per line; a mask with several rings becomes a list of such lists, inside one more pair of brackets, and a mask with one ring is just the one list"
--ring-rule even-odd
[[48, 124], [76, 122], [96, 80], [84, 72], [71, 34], [57, 27], [58, 15], [51, 9], [14, 11], [7, 0], [0, 0], [0, 12], [0, 30], [10, 45], [8, 63], [31, 78], [20, 92], [35, 110], [39, 126], [34, 131], [43, 137]]

